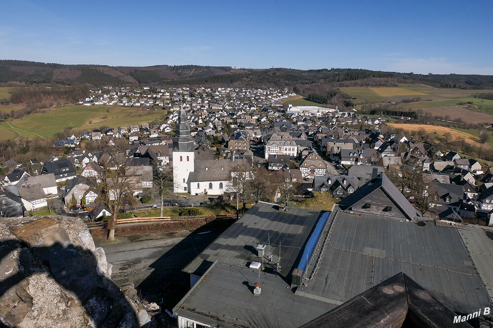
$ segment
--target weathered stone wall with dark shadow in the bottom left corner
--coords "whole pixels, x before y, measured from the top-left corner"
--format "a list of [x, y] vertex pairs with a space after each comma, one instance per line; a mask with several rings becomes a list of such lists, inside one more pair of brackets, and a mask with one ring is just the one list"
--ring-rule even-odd
[[[0, 218], [0, 322], [9, 327], [153, 327], [132, 286], [77, 218]], [[1, 326], [1, 324], [0, 324]]]

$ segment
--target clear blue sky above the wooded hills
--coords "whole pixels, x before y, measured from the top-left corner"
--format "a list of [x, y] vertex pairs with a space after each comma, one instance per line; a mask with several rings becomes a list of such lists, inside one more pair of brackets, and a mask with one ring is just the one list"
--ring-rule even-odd
[[492, 0], [0, 4], [0, 59], [493, 74]]

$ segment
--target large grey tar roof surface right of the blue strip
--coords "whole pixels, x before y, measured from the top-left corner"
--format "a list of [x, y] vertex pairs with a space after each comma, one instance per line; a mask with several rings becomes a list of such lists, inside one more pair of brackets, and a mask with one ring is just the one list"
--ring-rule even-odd
[[341, 304], [402, 271], [455, 312], [490, 304], [457, 229], [336, 212], [322, 260], [296, 294]]

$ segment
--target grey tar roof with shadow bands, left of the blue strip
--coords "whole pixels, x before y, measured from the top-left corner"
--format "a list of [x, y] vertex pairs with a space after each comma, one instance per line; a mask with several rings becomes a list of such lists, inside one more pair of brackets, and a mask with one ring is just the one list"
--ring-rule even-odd
[[[259, 262], [255, 248], [260, 243], [267, 244], [270, 237], [272, 264], [279, 259], [280, 241], [282, 268], [279, 272], [288, 276], [299, 261], [303, 245], [322, 212], [295, 207], [284, 211], [279, 210], [278, 205], [258, 202], [190, 262], [184, 271], [202, 275], [216, 260], [242, 267], [252, 261]], [[267, 253], [268, 248], [265, 249], [265, 256]]]

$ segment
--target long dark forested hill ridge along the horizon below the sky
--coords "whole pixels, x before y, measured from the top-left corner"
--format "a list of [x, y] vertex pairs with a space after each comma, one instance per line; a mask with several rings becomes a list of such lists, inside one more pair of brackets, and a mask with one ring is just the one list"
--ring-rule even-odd
[[1, 60], [0, 82], [165, 84], [203, 86], [289, 87], [295, 92], [321, 92], [334, 87], [397, 86], [423, 83], [442, 88], [493, 88], [492, 75], [413, 74], [367, 69], [331, 68], [297, 70], [288, 68], [237, 69], [226, 66], [101, 66], [62, 65]]

